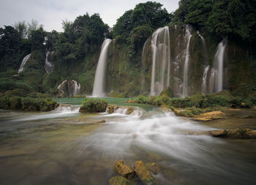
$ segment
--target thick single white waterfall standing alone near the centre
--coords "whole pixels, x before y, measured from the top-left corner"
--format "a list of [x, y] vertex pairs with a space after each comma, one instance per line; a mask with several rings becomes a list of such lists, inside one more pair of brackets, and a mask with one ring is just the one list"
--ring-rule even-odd
[[94, 97], [105, 96], [105, 68], [107, 62], [108, 47], [110, 45], [110, 42], [111, 39], [105, 39], [105, 41], [102, 44], [102, 49], [99, 55], [99, 61], [94, 78], [94, 89], [92, 91], [92, 96]]

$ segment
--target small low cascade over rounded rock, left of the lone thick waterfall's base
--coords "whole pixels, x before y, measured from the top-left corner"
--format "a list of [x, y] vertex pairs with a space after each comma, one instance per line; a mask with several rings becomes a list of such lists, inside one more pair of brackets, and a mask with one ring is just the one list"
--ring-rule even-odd
[[60, 95], [65, 96], [68, 95], [69, 97], [74, 97], [75, 95], [80, 93], [80, 84], [72, 80], [64, 80], [61, 84], [59, 84], [57, 88], [60, 92]]

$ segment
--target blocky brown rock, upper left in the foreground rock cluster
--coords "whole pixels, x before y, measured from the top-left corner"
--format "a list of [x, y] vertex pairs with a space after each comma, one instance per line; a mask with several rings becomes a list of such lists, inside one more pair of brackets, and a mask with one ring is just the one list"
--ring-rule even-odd
[[116, 165], [114, 166], [114, 171], [120, 176], [129, 179], [135, 176], [134, 170], [132, 170], [132, 168], [130, 168], [128, 165], [125, 165], [123, 160], [118, 160], [118, 162], [116, 162]]

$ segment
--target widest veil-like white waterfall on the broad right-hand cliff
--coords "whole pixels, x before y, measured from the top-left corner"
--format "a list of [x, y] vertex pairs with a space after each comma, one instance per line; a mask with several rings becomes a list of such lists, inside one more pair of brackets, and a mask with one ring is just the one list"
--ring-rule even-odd
[[[170, 33], [168, 26], [159, 28], [151, 39], [151, 95], [159, 95], [170, 85]], [[166, 76], [166, 78], [165, 78]]]

